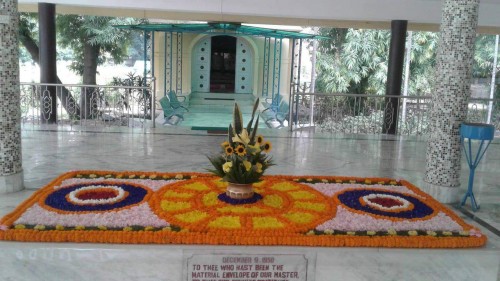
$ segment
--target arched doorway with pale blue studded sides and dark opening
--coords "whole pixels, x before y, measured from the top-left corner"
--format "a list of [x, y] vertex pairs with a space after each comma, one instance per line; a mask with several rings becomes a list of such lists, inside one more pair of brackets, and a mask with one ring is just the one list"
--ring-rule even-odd
[[253, 52], [243, 38], [207, 36], [193, 48], [192, 91], [252, 93]]

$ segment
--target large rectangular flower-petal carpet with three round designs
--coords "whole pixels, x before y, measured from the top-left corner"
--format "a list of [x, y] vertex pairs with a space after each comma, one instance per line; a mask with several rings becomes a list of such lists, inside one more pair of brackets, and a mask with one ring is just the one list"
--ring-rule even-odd
[[74, 171], [0, 221], [0, 239], [34, 242], [479, 247], [486, 236], [404, 180], [262, 176], [259, 200], [220, 200], [206, 173]]

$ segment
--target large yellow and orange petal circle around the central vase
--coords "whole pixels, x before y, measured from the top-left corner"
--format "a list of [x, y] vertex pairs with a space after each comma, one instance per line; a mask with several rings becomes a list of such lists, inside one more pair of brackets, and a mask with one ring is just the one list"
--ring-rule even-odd
[[331, 219], [331, 200], [307, 185], [265, 178], [254, 184], [262, 199], [234, 205], [220, 200], [227, 183], [218, 177], [169, 184], [151, 197], [154, 212], [172, 225], [191, 231], [306, 232]]

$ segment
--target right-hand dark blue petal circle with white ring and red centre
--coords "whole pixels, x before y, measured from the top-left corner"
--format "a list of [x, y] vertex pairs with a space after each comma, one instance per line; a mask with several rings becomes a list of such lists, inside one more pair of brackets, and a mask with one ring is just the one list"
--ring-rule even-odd
[[419, 198], [377, 189], [348, 189], [335, 198], [338, 204], [369, 215], [392, 219], [422, 219], [437, 214]]

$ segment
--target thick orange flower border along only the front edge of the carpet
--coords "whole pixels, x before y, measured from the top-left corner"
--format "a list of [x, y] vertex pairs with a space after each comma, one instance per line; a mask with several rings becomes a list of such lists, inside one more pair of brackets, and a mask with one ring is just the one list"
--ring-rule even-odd
[[254, 246], [314, 246], [314, 247], [388, 247], [388, 248], [464, 248], [480, 247], [486, 237], [359, 237], [359, 236], [233, 236], [168, 231], [58, 231], [40, 233], [19, 229], [0, 232], [0, 239], [24, 242], [89, 242], [116, 244], [208, 244]]

